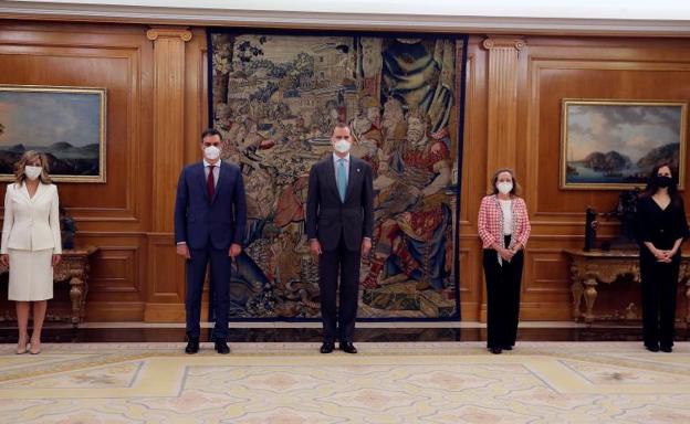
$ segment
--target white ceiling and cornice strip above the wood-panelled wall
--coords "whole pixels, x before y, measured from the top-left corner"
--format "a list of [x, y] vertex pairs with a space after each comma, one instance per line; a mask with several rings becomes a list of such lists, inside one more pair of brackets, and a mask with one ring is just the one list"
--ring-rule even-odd
[[318, 29], [690, 35], [690, 0], [0, 0], [0, 17]]

